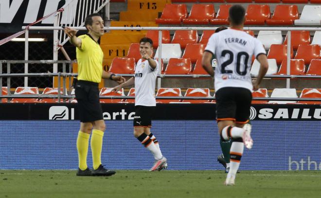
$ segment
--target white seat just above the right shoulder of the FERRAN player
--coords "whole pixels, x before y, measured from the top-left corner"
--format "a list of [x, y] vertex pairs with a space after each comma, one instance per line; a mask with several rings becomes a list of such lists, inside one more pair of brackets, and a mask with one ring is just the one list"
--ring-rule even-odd
[[283, 37], [281, 31], [260, 31], [257, 39], [262, 42], [266, 50], [270, 49], [272, 44], [282, 44]]

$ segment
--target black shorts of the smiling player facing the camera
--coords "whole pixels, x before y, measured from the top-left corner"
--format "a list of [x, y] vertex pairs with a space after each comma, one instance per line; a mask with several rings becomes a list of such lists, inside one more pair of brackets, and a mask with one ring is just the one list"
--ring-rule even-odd
[[135, 106], [134, 127], [152, 127], [152, 116], [155, 107]]

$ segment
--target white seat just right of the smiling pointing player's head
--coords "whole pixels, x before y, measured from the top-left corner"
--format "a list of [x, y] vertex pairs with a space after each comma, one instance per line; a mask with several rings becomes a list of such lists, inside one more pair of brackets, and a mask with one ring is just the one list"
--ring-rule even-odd
[[[158, 58], [158, 51], [159, 48], [157, 48], [155, 58]], [[170, 58], [180, 58], [181, 55], [182, 51], [179, 44], [161, 44], [161, 58], [164, 63], [168, 63]]]

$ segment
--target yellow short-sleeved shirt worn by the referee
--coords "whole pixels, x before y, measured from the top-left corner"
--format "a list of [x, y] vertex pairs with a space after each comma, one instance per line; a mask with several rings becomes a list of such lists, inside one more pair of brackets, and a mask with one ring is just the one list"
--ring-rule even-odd
[[103, 73], [104, 53], [99, 44], [89, 35], [78, 36], [81, 48], [76, 48], [78, 80], [100, 83]]

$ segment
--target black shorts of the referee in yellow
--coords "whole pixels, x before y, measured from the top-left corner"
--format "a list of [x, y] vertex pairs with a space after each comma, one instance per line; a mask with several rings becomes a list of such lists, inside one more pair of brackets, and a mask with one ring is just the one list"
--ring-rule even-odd
[[78, 80], [75, 96], [80, 121], [83, 123], [103, 120], [103, 110], [99, 102], [98, 83]]

